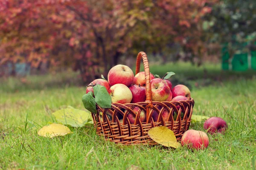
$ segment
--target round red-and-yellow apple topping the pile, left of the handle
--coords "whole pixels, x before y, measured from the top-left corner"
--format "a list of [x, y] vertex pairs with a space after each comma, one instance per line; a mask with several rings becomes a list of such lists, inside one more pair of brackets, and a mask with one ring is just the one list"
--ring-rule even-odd
[[108, 82], [111, 86], [124, 84], [129, 87], [134, 82], [134, 73], [126, 65], [115, 65], [108, 72]]

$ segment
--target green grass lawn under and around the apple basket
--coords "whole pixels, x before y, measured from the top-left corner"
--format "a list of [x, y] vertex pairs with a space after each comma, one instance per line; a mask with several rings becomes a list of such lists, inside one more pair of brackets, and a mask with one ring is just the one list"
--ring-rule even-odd
[[[62, 84], [63, 79], [48, 84], [46, 81], [51, 82], [54, 77], [32, 76], [25, 84], [18, 79], [2, 81], [0, 169], [255, 170], [255, 72], [222, 73], [218, 67], [208, 65], [209, 73], [204, 74], [204, 67], [183, 66], [164, 65], [158, 69], [153, 65], [151, 72], [163, 75], [166, 70], [174, 71], [176, 79], [182, 75], [192, 87], [193, 114], [219, 116], [227, 121], [227, 133], [208, 135], [210, 144], [206, 150], [120, 146], [105, 142], [91, 125], [70, 127], [74, 133], [53, 139], [38, 136], [37, 131], [52, 122], [50, 113], [61, 106], [84, 109], [81, 96], [85, 87]], [[199, 76], [193, 79], [193, 72]], [[217, 81], [218, 77], [225, 81]], [[205, 79], [209, 79], [207, 85]], [[192, 123], [190, 128], [204, 130], [203, 122]]]

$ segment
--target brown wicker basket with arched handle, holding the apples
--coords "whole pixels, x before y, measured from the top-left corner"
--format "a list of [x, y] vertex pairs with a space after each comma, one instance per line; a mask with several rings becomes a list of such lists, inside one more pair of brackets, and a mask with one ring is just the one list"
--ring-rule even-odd
[[[156, 126], [166, 126], [171, 129], [179, 141], [183, 133], [189, 129], [192, 116], [194, 100], [186, 100], [180, 102], [157, 102], [151, 98], [150, 71], [148, 59], [145, 52], [140, 52], [137, 56], [136, 74], [140, 72], [140, 61], [143, 58], [145, 80], [146, 80], [146, 101], [139, 103], [112, 103], [111, 108], [100, 108], [96, 104], [97, 113], [93, 114], [93, 122], [97, 130], [97, 134], [104, 136], [106, 140], [112, 142], [130, 145], [130, 144], [157, 144], [148, 136], [148, 130]], [[140, 108], [137, 115], [132, 111], [134, 107]], [[158, 109], [160, 108], [160, 110]], [[139, 119], [140, 111], [146, 112], [146, 122], [141, 122]], [[164, 110], [169, 111], [169, 117], [166, 121], [163, 120], [162, 113]], [[102, 112], [102, 113], [101, 113]], [[153, 112], [158, 113], [158, 119], [154, 122]], [[174, 113], [177, 113], [177, 118], [174, 120]], [[110, 116], [107, 115], [111, 114]], [[131, 124], [127, 118], [128, 114], [136, 115], [134, 124]], [[181, 118], [181, 113], [184, 113]], [[102, 114], [102, 119], [100, 115]], [[123, 116], [123, 123], [119, 122], [118, 115]]]

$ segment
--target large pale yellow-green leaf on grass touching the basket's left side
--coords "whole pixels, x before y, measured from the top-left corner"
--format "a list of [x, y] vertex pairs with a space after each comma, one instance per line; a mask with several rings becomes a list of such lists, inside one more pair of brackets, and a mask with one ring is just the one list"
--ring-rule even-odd
[[58, 123], [72, 127], [83, 127], [86, 123], [92, 123], [90, 111], [82, 111], [75, 108], [65, 108], [52, 113]]

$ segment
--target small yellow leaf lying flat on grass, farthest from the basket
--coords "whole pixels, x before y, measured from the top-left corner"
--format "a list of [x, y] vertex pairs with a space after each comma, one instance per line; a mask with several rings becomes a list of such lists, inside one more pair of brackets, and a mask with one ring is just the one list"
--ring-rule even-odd
[[62, 124], [52, 123], [51, 125], [44, 126], [38, 131], [39, 136], [53, 138], [55, 136], [64, 136], [73, 133], [67, 126]]

